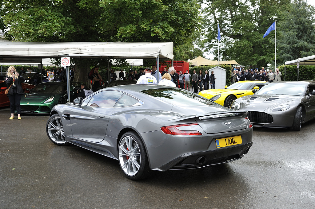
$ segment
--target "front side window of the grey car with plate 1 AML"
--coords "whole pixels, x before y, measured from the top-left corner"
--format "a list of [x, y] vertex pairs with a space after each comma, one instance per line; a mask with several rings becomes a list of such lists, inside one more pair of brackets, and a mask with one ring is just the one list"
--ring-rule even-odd
[[100, 91], [92, 96], [88, 106], [114, 107], [118, 99], [123, 95], [120, 91]]

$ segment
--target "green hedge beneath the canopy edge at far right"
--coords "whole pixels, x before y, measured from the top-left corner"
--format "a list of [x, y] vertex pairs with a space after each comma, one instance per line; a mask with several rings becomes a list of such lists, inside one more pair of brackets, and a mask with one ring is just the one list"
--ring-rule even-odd
[[[296, 65], [281, 65], [278, 67], [282, 76], [281, 79], [286, 81], [297, 81], [297, 68]], [[315, 66], [300, 65], [299, 67], [299, 80], [314, 80]]]

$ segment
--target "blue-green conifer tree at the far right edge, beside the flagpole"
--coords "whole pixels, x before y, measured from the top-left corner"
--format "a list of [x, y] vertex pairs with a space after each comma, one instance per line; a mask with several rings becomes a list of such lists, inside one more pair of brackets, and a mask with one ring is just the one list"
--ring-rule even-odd
[[278, 23], [277, 54], [279, 64], [315, 54], [315, 8], [302, 0], [295, 0], [283, 11]]

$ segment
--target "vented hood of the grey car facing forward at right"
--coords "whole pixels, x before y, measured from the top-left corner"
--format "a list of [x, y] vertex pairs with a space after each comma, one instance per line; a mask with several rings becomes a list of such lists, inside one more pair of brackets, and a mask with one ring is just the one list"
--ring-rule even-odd
[[271, 107], [289, 104], [291, 101], [300, 99], [301, 96], [288, 95], [252, 95], [242, 97], [242, 110], [265, 111]]

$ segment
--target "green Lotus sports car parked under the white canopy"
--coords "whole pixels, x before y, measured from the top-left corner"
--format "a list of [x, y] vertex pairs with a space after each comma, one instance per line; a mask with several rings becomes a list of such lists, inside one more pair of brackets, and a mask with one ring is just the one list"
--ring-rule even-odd
[[[70, 102], [77, 96], [77, 89], [70, 84]], [[21, 113], [50, 113], [56, 104], [67, 101], [66, 82], [44, 82], [38, 84], [30, 93], [21, 98]]]

